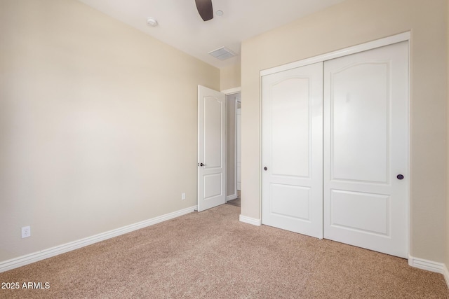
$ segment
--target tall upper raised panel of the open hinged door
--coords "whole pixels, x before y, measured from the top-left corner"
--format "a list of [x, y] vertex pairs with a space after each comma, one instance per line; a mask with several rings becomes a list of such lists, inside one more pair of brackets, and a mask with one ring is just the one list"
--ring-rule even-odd
[[206, 168], [222, 167], [222, 109], [215, 97], [204, 97], [204, 164]]

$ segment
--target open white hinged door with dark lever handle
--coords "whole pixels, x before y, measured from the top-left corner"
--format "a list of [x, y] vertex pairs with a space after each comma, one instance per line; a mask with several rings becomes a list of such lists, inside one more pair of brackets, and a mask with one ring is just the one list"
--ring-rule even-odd
[[198, 85], [198, 211], [226, 202], [225, 94]]

